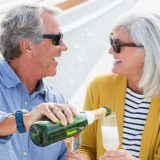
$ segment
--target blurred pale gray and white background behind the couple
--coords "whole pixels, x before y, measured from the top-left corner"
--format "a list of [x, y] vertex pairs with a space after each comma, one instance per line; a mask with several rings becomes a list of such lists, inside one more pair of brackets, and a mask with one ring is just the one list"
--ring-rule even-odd
[[0, 0], [0, 17], [18, 3], [56, 5], [63, 10], [60, 24], [68, 51], [58, 58], [57, 74], [46, 78], [78, 110], [82, 110], [89, 82], [97, 75], [110, 73], [108, 54], [112, 25], [130, 10], [158, 12], [158, 0]]

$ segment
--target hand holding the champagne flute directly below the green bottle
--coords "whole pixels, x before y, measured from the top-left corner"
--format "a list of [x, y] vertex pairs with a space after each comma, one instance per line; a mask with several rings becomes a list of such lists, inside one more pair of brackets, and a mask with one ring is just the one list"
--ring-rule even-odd
[[83, 157], [78, 151], [67, 151], [67, 159], [66, 160], [87, 160]]

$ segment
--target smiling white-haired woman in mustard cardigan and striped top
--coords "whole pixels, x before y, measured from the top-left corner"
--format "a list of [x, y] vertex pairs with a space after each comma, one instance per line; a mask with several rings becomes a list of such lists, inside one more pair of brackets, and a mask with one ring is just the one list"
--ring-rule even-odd
[[160, 159], [160, 16], [150, 12], [127, 14], [113, 27], [110, 42], [113, 74], [91, 82], [84, 110], [108, 105], [116, 112], [119, 149], [105, 151], [101, 124], [96, 121], [82, 133], [80, 154], [68, 153], [68, 157]]

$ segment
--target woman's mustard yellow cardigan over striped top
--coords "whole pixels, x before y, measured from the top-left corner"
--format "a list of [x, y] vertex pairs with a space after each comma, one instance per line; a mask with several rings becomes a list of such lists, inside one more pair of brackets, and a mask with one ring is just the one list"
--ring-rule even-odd
[[[127, 80], [120, 75], [102, 75], [95, 78], [87, 89], [84, 110], [94, 110], [102, 106], [110, 106], [117, 113], [120, 146], [122, 148], [123, 115]], [[79, 151], [88, 160], [99, 160], [104, 155], [101, 125], [97, 120], [82, 132]], [[160, 160], [160, 97], [151, 101], [146, 125], [144, 127], [141, 148], [141, 160]]]

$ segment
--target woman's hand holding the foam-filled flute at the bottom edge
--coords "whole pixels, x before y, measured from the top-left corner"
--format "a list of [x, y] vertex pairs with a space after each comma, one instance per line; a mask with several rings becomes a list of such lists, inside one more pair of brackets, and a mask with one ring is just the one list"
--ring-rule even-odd
[[100, 160], [139, 160], [139, 158], [133, 157], [126, 150], [108, 151], [104, 156], [100, 157]]

